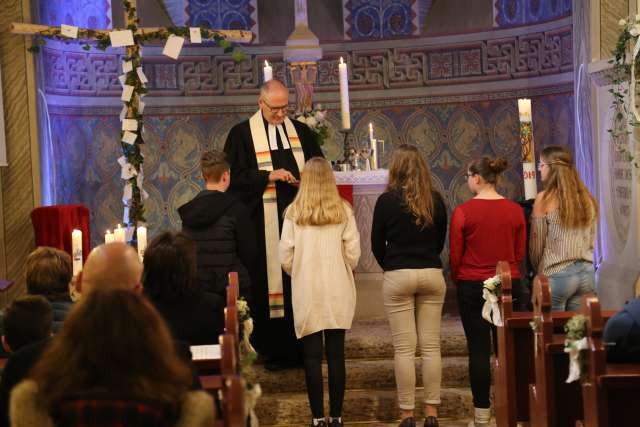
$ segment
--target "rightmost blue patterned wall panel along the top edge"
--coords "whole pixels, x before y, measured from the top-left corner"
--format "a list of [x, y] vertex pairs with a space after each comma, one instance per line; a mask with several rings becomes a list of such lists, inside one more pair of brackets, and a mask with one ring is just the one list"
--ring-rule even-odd
[[571, 15], [572, 0], [495, 0], [497, 27], [537, 24]]

